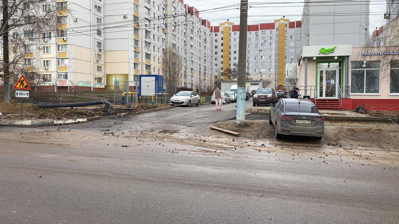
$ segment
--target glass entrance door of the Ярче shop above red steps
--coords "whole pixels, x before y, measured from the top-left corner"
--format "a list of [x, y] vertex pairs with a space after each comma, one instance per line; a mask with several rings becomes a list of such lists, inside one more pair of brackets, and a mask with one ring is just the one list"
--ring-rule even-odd
[[338, 69], [320, 69], [319, 97], [338, 98]]

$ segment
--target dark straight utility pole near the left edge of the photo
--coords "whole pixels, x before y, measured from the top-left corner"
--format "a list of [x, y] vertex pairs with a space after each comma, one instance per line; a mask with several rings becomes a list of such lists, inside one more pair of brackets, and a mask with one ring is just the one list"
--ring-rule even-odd
[[3, 82], [4, 102], [10, 103], [10, 55], [8, 48], [8, 0], [3, 0]]

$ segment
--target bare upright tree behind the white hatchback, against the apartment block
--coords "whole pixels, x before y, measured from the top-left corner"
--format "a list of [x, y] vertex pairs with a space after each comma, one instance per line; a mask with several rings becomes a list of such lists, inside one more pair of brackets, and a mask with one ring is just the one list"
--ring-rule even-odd
[[182, 73], [183, 62], [179, 52], [167, 46], [162, 55], [162, 69], [166, 90], [173, 91], [178, 88], [180, 74]]

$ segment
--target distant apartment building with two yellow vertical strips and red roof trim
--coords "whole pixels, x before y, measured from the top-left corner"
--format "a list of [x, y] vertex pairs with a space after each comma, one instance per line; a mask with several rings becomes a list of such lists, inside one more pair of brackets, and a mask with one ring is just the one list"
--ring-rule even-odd
[[[238, 64], [239, 25], [226, 21], [212, 26], [212, 75], [227, 81], [222, 73]], [[296, 63], [301, 51], [301, 21], [280, 18], [273, 23], [248, 25], [247, 73], [253, 80], [265, 80], [271, 87], [284, 88], [285, 65]]]

